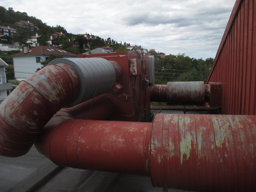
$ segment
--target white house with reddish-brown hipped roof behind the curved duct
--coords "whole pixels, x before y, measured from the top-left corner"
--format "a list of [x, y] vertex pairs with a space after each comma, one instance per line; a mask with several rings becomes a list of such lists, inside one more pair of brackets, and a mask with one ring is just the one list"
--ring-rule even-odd
[[76, 58], [77, 55], [53, 46], [38, 46], [13, 54], [14, 76], [18, 81], [28, 78], [38, 68], [42, 67], [41, 62], [47, 60], [51, 54], [63, 56], [63, 58]]

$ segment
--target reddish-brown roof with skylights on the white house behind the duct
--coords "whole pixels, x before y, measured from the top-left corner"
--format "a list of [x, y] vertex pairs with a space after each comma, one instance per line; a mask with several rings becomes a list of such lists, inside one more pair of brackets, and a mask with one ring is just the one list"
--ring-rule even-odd
[[77, 57], [77, 54], [62, 50], [57, 47], [52, 46], [38, 46], [28, 50], [28, 53], [24, 53], [24, 51], [11, 55], [12, 57], [20, 57], [20, 56], [33, 56], [33, 55], [61, 55], [61, 56], [73, 56]]

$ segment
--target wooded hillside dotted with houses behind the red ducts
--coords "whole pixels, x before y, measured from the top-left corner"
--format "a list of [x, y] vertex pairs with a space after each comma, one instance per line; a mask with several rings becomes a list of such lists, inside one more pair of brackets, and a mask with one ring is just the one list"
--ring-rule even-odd
[[[185, 54], [166, 55], [155, 49], [128, 42], [103, 39], [93, 32], [68, 33], [63, 26], [48, 26], [42, 20], [0, 6], [0, 58], [5, 74], [0, 81], [18, 84], [56, 58], [76, 58], [77, 54], [104, 54], [135, 51], [155, 58], [157, 84], [168, 81], [205, 81], [213, 58], [194, 59]], [[86, 29], [85, 29], [86, 30]], [[12, 82], [13, 83], [13, 82]], [[8, 89], [7, 89], [8, 90]]]

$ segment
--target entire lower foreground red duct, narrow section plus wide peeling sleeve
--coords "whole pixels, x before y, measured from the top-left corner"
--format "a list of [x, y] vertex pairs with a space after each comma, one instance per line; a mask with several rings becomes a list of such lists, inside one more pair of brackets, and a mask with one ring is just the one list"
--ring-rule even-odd
[[66, 120], [36, 147], [61, 166], [150, 175], [153, 186], [254, 191], [256, 117], [157, 114], [153, 123]]

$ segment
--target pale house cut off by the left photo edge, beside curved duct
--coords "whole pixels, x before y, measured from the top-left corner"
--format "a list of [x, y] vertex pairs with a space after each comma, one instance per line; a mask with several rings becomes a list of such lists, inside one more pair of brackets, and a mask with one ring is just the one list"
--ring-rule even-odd
[[0, 58], [0, 103], [7, 97], [7, 91], [12, 89], [12, 84], [6, 81], [6, 66], [8, 64]]

